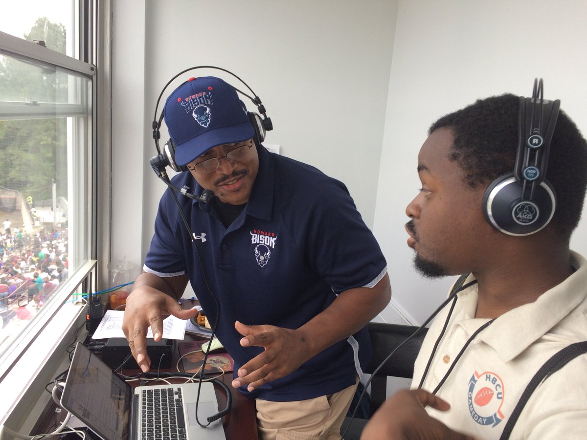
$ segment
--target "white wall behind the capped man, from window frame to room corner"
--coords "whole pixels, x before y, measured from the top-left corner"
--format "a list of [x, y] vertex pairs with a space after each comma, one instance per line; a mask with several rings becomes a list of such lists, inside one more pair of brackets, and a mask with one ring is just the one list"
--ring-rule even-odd
[[[171, 77], [197, 65], [224, 67], [245, 80], [274, 124], [266, 143], [345, 182], [372, 226], [397, 1], [125, 0], [112, 6], [112, 259], [143, 263], [165, 188], [149, 167], [156, 99]], [[174, 84], [204, 75], [239, 87], [214, 70], [187, 73]]]

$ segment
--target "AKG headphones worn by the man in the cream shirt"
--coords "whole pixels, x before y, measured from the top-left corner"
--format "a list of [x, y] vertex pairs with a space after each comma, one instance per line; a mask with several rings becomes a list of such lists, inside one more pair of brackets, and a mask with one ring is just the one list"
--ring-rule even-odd
[[542, 79], [534, 80], [531, 98], [519, 98], [519, 139], [514, 172], [485, 190], [483, 214], [498, 231], [524, 236], [540, 231], [556, 209], [555, 190], [546, 167], [560, 100], [543, 98]]

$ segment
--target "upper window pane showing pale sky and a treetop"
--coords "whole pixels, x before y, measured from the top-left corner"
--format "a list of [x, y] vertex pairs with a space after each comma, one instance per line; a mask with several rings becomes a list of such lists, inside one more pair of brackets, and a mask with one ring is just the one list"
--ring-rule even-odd
[[5, 2], [0, 31], [28, 41], [42, 40], [47, 48], [76, 57], [74, 0]]

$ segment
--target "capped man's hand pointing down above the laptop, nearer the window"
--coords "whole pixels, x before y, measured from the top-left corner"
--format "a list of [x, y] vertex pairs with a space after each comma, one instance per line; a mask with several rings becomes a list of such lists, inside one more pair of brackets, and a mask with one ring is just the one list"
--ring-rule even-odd
[[[163, 320], [173, 314], [179, 319], [190, 319], [198, 310], [184, 310], [174, 295], [176, 289], [183, 292], [187, 281], [183, 277], [173, 277], [162, 281], [150, 273], [143, 273], [134, 282], [133, 292], [126, 299], [122, 330], [129, 341], [130, 351], [141, 370], [149, 371], [151, 360], [147, 355], [147, 330], [151, 327], [153, 339], [160, 341], [163, 336]], [[154, 287], [156, 286], [156, 287]], [[158, 287], [158, 288], [157, 288]], [[174, 289], [173, 287], [176, 287]], [[161, 289], [161, 290], [160, 290]], [[170, 293], [164, 293], [170, 292]]]

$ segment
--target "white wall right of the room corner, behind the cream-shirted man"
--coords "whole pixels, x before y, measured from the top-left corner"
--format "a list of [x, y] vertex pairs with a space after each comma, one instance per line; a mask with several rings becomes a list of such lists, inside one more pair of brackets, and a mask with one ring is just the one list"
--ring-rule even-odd
[[[587, 2], [549, 0], [401, 0], [389, 83], [374, 232], [388, 259], [396, 306], [422, 323], [446, 297], [454, 277], [429, 281], [410, 269], [403, 225], [420, 187], [417, 154], [427, 129], [475, 99], [505, 92], [528, 96], [544, 78], [546, 99], [587, 134]], [[587, 219], [572, 248], [587, 253]]]

